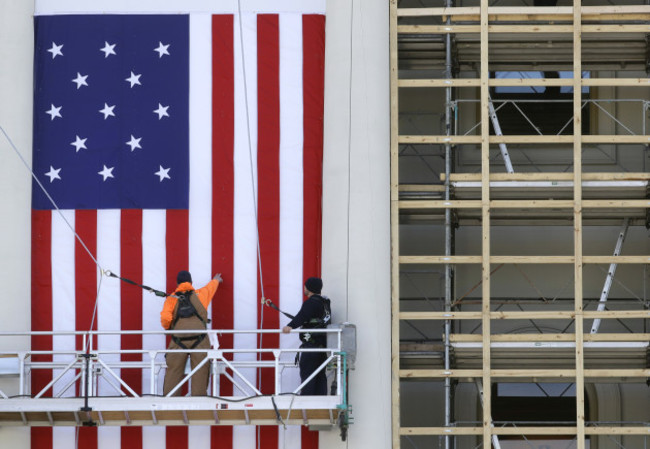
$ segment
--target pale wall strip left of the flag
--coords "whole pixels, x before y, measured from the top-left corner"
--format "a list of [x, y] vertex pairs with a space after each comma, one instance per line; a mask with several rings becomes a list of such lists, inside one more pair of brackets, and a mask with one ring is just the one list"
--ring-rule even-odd
[[[33, 4], [0, 0], [0, 126], [31, 164]], [[30, 328], [30, 183], [20, 157], [0, 132], [0, 332]], [[14, 291], [15, 294], [7, 294]], [[0, 350], [27, 349], [29, 340], [0, 339]], [[0, 379], [0, 388], [16, 393], [15, 379]], [[3, 447], [29, 447], [29, 429], [0, 427]], [[6, 444], [6, 446], [4, 446]]]

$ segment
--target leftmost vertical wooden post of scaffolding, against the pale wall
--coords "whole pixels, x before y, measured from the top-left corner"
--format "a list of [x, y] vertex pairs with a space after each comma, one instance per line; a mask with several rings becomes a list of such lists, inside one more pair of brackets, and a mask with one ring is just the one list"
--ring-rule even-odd
[[391, 235], [391, 396], [393, 449], [400, 447], [399, 376], [399, 170], [397, 87], [397, 0], [390, 0], [390, 235]]

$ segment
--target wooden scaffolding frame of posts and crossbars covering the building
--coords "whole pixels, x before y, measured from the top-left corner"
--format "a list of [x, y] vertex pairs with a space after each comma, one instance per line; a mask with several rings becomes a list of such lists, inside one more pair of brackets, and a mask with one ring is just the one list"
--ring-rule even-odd
[[[628, 135], [583, 135], [582, 134], [582, 109], [585, 104], [582, 99], [582, 88], [584, 86], [599, 87], [642, 87], [650, 85], [648, 78], [583, 78], [583, 70], [603, 67], [603, 70], [611, 70], [610, 67], [620, 67], [614, 54], [614, 62], [610, 64], [606, 59], [611, 60], [612, 50], [616, 45], [608, 47], [605, 42], [612, 39], [613, 42], [619, 37], [627, 39], [628, 36], [641, 36], [639, 39], [647, 43], [647, 35], [650, 34], [650, 6], [648, 5], [612, 5], [612, 6], [582, 6], [581, 2], [575, 0], [570, 7], [510, 7], [490, 6], [488, 0], [480, 0], [479, 6], [454, 7], [451, 1], [445, 2], [445, 7], [432, 8], [400, 8], [397, 0], [390, 0], [390, 94], [391, 94], [391, 275], [392, 275], [392, 446], [401, 447], [401, 437], [409, 438], [416, 435], [437, 435], [444, 441], [444, 447], [449, 449], [450, 436], [453, 435], [477, 435], [482, 436], [482, 447], [491, 447], [494, 437], [500, 435], [568, 435], [574, 436], [577, 449], [585, 449], [586, 436], [594, 435], [648, 435], [649, 427], [645, 425], [633, 425], [633, 423], [618, 423], [619, 425], [598, 425], [585, 422], [585, 379], [596, 380], [621, 380], [631, 378], [636, 382], [644, 382], [650, 377], [650, 369], [647, 365], [635, 366], [626, 369], [612, 369], [612, 367], [586, 367], [585, 351], [598, 351], [600, 348], [610, 347], [625, 349], [638, 347], [643, 355], [647, 353], [647, 333], [625, 333], [625, 334], [590, 334], [585, 333], [585, 320], [593, 319], [600, 322], [602, 319], [643, 319], [650, 318], [650, 312], [644, 310], [605, 310], [605, 307], [596, 311], [586, 311], [583, 298], [583, 270], [585, 264], [610, 264], [615, 267], [618, 264], [640, 264], [650, 263], [648, 255], [621, 256], [620, 251], [614, 255], [585, 255], [582, 247], [583, 226], [585, 219], [591, 219], [589, 215], [598, 215], [604, 212], [616, 213], [620, 218], [625, 217], [625, 228], [627, 224], [647, 224], [647, 219], [629, 219], [630, 211], [642, 211], [647, 215], [650, 208], [650, 201], [646, 195], [642, 197], [629, 198], [584, 198], [588, 191], [587, 184], [590, 181], [602, 181], [622, 185], [628, 181], [648, 180], [647, 173], [583, 173], [582, 151], [586, 144], [636, 144], [645, 146], [650, 144], [650, 136], [646, 135], [645, 115], [643, 118], [642, 134], [630, 132]], [[434, 17], [433, 22], [421, 22], [417, 24], [400, 24], [400, 18], [423, 18]], [[597, 39], [583, 39], [588, 34], [595, 36], [599, 33], [602, 36], [602, 46], [607, 51], [602, 55], [593, 56], [585, 50], [598, 46]], [[502, 67], [499, 70], [507, 70], [508, 62], [499, 60], [502, 53], [499, 53], [501, 41], [499, 36], [507, 38], [521, 35], [544, 35], [549, 39], [563, 35], [565, 41], [570, 42], [566, 47], [565, 58], [558, 64], [549, 65], [549, 70], [560, 70], [570, 68], [573, 72], [572, 78], [567, 79], [492, 79], [490, 78], [491, 45], [495, 46], [495, 60], [493, 67]], [[410, 39], [420, 42], [427, 42], [435, 46], [441, 43], [438, 50], [444, 47], [444, 57], [438, 57], [431, 61], [422, 61], [422, 68], [434, 68], [444, 71], [442, 79], [429, 79], [418, 77], [417, 79], [401, 79], [399, 76], [400, 48], [399, 38], [407, 36]], [[479, 47], [478, 57], [458, 57], [454, 64], [451, 61], [452, 36], [458, 37], [464, 42], [467, 48], [471, 45]], [[495, 37], [496, 36], [496, 37]], [[494, 40], [492, 40], [492, 38]], [[516, 39], [516, 37], [515, 37]], [[595, 44], [594, 44], [595, 42]], [[433, 47], [432, 47], [433, 48]], [[442, 53], [442, 52], [439, 52]], [[568, 60], [566, 56], [568, 55]], [[590, 56], [591, 55], [591, 56]], [[623, 58], [623, 57], [621, 57]], [[650, 64], [647, 55], [640, 59], [629, 57], [630, 66], [647, 71]], [[519, 55], [517, 62], [525, 61], [526, 55]], [[621, 62], [621, 64], [625, 64]], [[532, 64], [533, 66], [535, 64]], [[452, 67], [471, 67], [478, 72], [478, 78], [455, 78]], [[413, 70], [417, 70], [416, 66]], [[520, 69], [519, 69], [520, 70]], [[532, 69], [540, 70], [540, 69]], [[500, 133], [490, 134], [490, 88], [496, 86], [569, 86], [573, 88], [573, 117], [574, 123], [572, 135], [517, 135], [502, 136]], [[402, 135], [399, 132], [399, 89], [400, 88], [444, 88], [445, 89], [445, 112], [444, 132], [440, 135]], [[453, 90], [457, 87], [473, 87], [479, 89], [480, 117], [478, 126], [480, 132], [474, 135], [457, 135], [451, 126], [453, 104]], [[644, 114], [647, 111], [647, 104], [644, 103]], [[610, 116], [611, 117], [611, 116]], [[613, 118], [613, 117], [612, 117]], [[616, 120], [616, 119], [615, 119]], [[623, 129], [626, 129], [625, 127]], [[629, 131], [629, 130], [627, 130]], [[436, 144], [444, 148], [445, 173], [440, 177], [438, 184], [427, 186], [403, 186], [399, 180], [399, 157], [400, 145]], [[458, 174], [453, 173], [452, 153], [454, 147], [463, 144], [472, 144], [480, 147], [480, 174]], [[492, 173], [491, 154], [494, 145], [499, 145], [502, 152], [508, 144], [565, 144], [570, 146], [572, 153], [571, 173]], [[416, 151], [417, 153], [417, 151]], [[420, 154], [416, 154], [421, 157]], [[508, 170], [511, 171], [511, 170]], [[455, 182], [471, 179], [478, 183], [480, 195], [472, 199], [456, 199], [451, 193]], [[570, 199], [500, 199], [496, 192], [497, 182], [511, 183], [534, 183], [539, 181], [550, 181], [551, 183], [566, 182], [565, 187], [570, 189]], [[432, 183], [435, 184], [435, 183]], [[529, 188], [521, 186], [520, 188]], [[421, 197], [409, 197], [405, 199], [400, 192], [426, 192]], [[431, 196], [436, 196], [432, 199]], [[416, 195], [417, 196], [417, 195]], [[475, 224], [481, 227], [481, 253], [478, 255], [455, 255], [453, 251], [454, 223], [451, 216], [458, 211], [473, 209], [479, 212]], [[491, 220], [495, 211], [518, 210], [523, 211], [522, 215], [535, 217], [543, 211], [563, 209], [569, 216], [573, 225], [573, 248], [571, 255], [562, 256], [504, 256], [491, 253]], [[441, 255], [406, 256], [400, 252], [399, 226], [400, 214], [404, 211], [434, 211], [444, 212], [445, 229], [445, 252]], [[587, 212], [585, 212], [587, 211]], [[638, 217], [637, 217], [638, 218]], [[506, 218], [507, 219], [507, 218]], [[593, 222], [592, 224], [599, 224]], [[622, 239], [619, 239], [622, 243]], [[435, 264], [444, 266], [445, 273], [445, 297], [444, 310], [441, 311], [420, 311], [404, 312], [400, 310], [400, 267], [409, 267], [419, 264]], [[453, 276], [454, 267], [458, 264], [476, 264], [481, 266], [481, 303], [479, 310], [461, 311], [452, 307], [453, 299]], [[573, 271], [573, 308], [567, 311], [494, 311], [491, 308], [491, 269], [498, 264], [553, 264], [571, 267]], [[613, 273], [607, 277], [611, 285]], [[608, 294], [608, 287], [606, 287]], [[602, 300], [602, 298], [601, 298]], [[573, 333], [547, 333], [541, 335], [511, 335], [492, 334], [491, 325], [494, 320], [571, 320], [574, 326]], [[439, 369], [403, 369], [400, 366], [400, 323], [412, 323], [417, 320], [439, 320], [444, 322], [443, 336], [443, 366]], [[473, 320], [480, 323], [480, 335], [453, 334], [453, 323], [457, 320]], [[469, 338], [471, 337], [471, 342]], [[537, 348], [540, 343], [548, 347], [560, 348], [572, 352], [573, 366], [560, 367], [557, 369], [517, 369], [506, 367], [495, 369], [492, 364], [493, 351], [506, 347], [508, 342], [527, 348]], [[562, 343], [562, 344], [558, 344]], [[474, 369], [456, 369], [450, 363], [450, 350], [458, 348], [463, 344], [471, 344], [475, 351], [480, 353], [481, 365]], [[459, 346], [460, 345], [460, 346]], [[506, 345], [506, 346], [503, 346]], [[499, 349], [501, 348], [501, 349]], [[417, 350], [415, 351], [417, 352]], [[645, 362], [645, 360], [644, 360]], [[402, 427], [400, 423], [400, 380], [402, 379], [437, 379], [444, 380], [444, 427]], [[554, 427], [549, 429], [544, 426], [529, 427], [497, 427], [494, 426], [491, 418], [492, 397], [491, 388], [487, 386], [499, 379], [564, 379], [570, 378], [576, 384], [576, 410], [575, 425]], [[482, 425], [459, 426], [453, 423], [450, 415], [452, 413], [453, 389], [451, 380], [455, 381], [479, 381], [486, 386], [482, 394]], [[457, 423], [456, 423], [457, 424]], [[411, 444], [413, 444], [411, 442]]]

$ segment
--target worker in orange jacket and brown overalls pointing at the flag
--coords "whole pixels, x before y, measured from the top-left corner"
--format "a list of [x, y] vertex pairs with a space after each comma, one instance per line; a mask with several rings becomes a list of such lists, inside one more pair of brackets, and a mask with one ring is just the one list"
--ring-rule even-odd
[[[195, 290], [192, 286], [192, 275], [188, 271], [179, 271], [176, 276], [178, 286], [174, 296], [168, 296], [160, 312], [160, 323], [165, 329], [177, 330], [205, 330], [208, 321], [208, 305], [217, 292], [219, 284], [223, 282], [221, 273], [205, 287]], [[178, 334], [172, 335], [169, 348], [178, 351], [168, 352], [167, 372], [163, 385], [163, 394], [167, 395], [185, 377], [185, 363], [190, 358], [192, 369], [207, 357], [205, 352], [183, 352], [183, 349], [210, 349], [207, 334]], [[205, 396], [208, 388], [209, 364], [203, 365], [192, 376], [192, 396]], [[180, 395], [180, 388], [174, 396]]]

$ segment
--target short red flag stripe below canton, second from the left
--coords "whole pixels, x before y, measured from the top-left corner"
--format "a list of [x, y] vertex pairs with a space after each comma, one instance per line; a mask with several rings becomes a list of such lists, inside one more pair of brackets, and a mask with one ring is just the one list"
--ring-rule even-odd
[[[74, 245], [74, 276], [75, 276], [75, 329], [79, 331], [97, 330], [97, 317], [94, 317], [97, 299], [97, 265], [93, 257], [97, 257], [97, 211], [78, 210], [75, 212], [75, 231], [85, 244], [75, 239]], [[88, 254], [88, 251], [92, 254]], [[93, 343], [96, 347], [97, 340]], [[86, 342], [88, 345], [88, 342]], [[84, 347], [81, 336], [77, 337], [77, 350], [92, 351], [94, 348]], [[83, 379], [83, 378], [82, 378]], [[81, 393], [79, 391], [78, 393]], [[79, 428], [79, 447], [97, 448], [97, 428]]]

